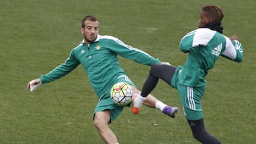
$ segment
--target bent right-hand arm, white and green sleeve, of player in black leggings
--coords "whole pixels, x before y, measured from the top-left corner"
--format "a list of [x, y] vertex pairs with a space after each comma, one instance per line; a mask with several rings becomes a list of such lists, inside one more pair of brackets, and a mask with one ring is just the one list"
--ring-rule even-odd
[[225, 39], [226, 46], [222, 56], [235, 62], [242, 62], [243, 48], [241, 43], [237, 40], [238, 38], [234, 39], [233, 41], [231, 41], [232, 39], [228, 37], [225, 37]]

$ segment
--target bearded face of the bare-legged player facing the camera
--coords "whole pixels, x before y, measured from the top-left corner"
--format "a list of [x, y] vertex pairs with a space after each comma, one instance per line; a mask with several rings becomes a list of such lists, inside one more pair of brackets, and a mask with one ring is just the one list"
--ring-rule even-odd
[[81, 28], [81, 33], [84, 37], [85, 43], [93, 43], [99, 33], [99, 22], [85, 21], [85, 28]]

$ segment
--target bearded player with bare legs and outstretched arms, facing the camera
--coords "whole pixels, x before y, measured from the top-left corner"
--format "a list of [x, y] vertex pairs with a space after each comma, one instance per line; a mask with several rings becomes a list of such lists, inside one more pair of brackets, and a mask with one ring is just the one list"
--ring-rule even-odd
[[[142, 65], [152, 65], [161, 63], [161, 61], [142, 50], [124, 44], [117, 38], [100, 35], [99, 28], [99, 21], [95, 16], [85, 16], [82, 19], [80, 30], [83, 36], [82, 42], [71, 50], [70, 56], [63, 64], [55, 67], [48, 74], [28, 82], [26, 89], [32, 90], [41, 84], [60, 79], [81, 64], [99, 98], [93, 115], [94, 125], [105, 143], [113, 144], [118, 143], [118, 141], [108, 124], [122, 113], [124, 106], [119, 106], [112, 101], [110, 88], [117, 82], [125, 82], [133, 87], [135, 94], [139, 94], [139, 90], [120, 67], [117, 55], [134, 60]], [[177, 107], [167, 106], [150, 94], [144, 104], [159, 109], [173, 118], [178, 111]]]

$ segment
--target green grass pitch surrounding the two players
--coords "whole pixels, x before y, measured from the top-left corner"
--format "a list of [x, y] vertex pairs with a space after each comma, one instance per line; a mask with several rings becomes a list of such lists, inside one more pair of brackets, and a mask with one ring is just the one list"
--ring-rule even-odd
[[[97, 103], [82, 67], [36, 89], [26, 84], [64, 62], [82, 39], [80, 21], [100, 19], [100, 33], [114, 35], [154, 57], [182, 65], [179, 40], [197, 26], [201, 7], [223, 7], [225, 35], [237, 34], [245, 48], [240, 64], [224, 58], [210, 70], [203, 98], [207, 130], [223, 143], [255, 143], [255, 5], [253, 0], [3, 0], [0, 4], [0, 143], [103, 143], [92, 123]], [[120, 57], [139, 89], [149, 67]], [[181, 109], [178, 94], [164, 82], [153, 94]], [[158, 125], [153, 125], [157, 123]], [[119, 143], [198, 143], [182, 111], [175, 119], [145, 106], [112, 123]]]

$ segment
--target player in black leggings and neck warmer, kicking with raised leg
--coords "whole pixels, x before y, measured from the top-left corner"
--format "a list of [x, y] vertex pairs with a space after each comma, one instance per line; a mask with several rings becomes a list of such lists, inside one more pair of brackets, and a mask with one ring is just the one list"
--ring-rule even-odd
[[[204, 6], [198, 21], [198, 29], [187, 33], [179, 44], [182, 52], [188, 53], [181, 67], [154, 64], [144, 83], [142, 93], [133, 101], [133, 113], [139, 112], [142, 101], [156, 86], [159, 78], [178, 90], [183, 112], [193, 137], [201, 143], [220, 143], [206, 131], [203, 123], [201, 99], [206, 89], [206, 75], [218, 57], [223, 56], [235, 62], [242, 62], [242, 45], [238, 36], [223, 35], [221, 21], [223, 11], [219, 6]], [[135, 109], [135, 110], [134, 110]]]

